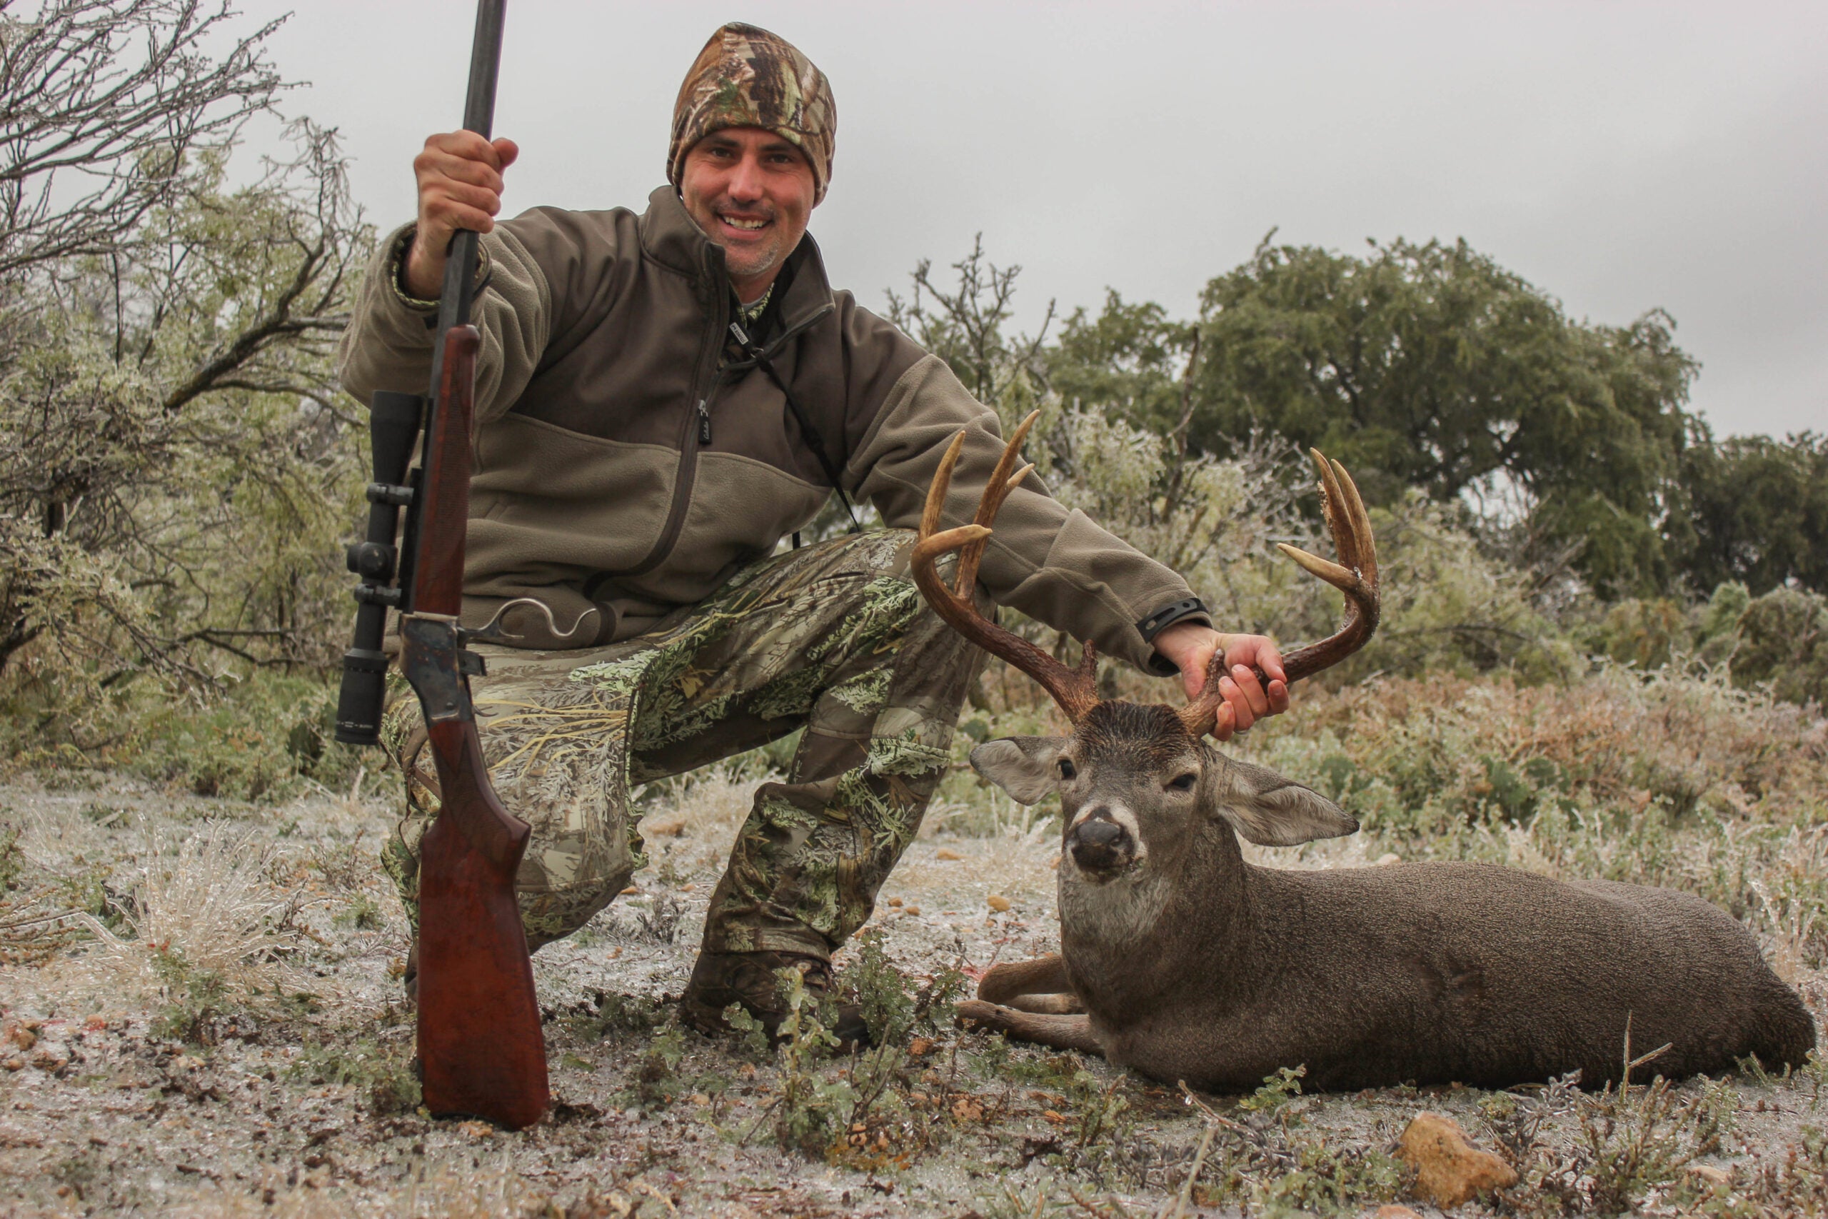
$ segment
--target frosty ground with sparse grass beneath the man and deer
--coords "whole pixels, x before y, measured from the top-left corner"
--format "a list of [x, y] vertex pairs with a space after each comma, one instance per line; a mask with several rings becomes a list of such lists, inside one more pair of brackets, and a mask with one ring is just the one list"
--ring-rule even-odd
[[[1523, 1170], [1488, 1201], [1504, 1214], [1828, 1208], [1813, 1065], [1625, 1097], [1313, 1097], [1296, 1076], [1201, 1097], [954, 1029], [949, 1002], [972, 970], [1057, 945], [1057, 822], [969, 775], [949, 780], [874, 934], [843, 958], [888, 1029], [883, 1051], [823, 1055], [810, 1012], [784, 1051], [686, 1031], [671, 1000], [760, 764], [649, 790], [653, 866], [536, 954], [556, 1102], [519, 1133], [417, 1109], [408, 932], [375, 863], [388, 777], [289, 802], [16, 777], [0, 788], [0, 1212], [1433, 1214], [1393, 1155], [1420, 1111]], [[1258, 857], [1375, 866], [1382, 852], [1360, 835]], [[1828, 1014], [1819, 970], [1788, 976]]]

